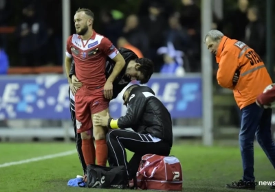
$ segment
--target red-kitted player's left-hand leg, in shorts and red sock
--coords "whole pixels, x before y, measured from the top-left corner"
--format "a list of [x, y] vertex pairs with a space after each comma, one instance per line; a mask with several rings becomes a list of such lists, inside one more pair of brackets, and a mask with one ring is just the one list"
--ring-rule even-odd
[[91, 141], [93, 139], [93, 132], [91, 131], [91, 113], [89, 110], [89, 97], [76, 96], [76, 131], [80, 133], [82, 140], [82, 152], [86, 165], [95, 164], [92, 154]]

